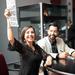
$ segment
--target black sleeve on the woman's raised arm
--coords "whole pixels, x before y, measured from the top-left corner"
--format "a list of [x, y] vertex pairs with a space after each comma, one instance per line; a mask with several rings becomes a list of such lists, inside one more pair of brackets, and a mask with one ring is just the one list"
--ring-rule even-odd
[[14, 41], [13, 46], [9, 42], [9, 44], [8, 44], [8, 50], [10, 50], [10, 51], [17, 51], [19, 53], [22, 53], [23, 45], [18, 40], [16, 40], [15, 38], [14, 38], [14, 40], [15, 41]]

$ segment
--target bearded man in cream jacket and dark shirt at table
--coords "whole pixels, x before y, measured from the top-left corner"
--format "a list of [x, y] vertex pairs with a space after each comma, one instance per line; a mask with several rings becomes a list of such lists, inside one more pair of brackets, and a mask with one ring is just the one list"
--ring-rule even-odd
[[48, 28], [48, 36], [37, 41], [38, 45], [47, 53], [56, 58], [67, 58], [68, 55], [75, 58], [75, 50], [69, 48], [67, 44], [59, 37], [58, 24], [51, 23]]

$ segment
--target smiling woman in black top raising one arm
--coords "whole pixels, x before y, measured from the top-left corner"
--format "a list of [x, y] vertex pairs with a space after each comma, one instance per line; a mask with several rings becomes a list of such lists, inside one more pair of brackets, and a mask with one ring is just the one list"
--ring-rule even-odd
[[36, 33], [33, 26], [27, 26], [22, 29], [22, 43], [16, 40], [9, 20], [12, 15], [10, 10], [6, 9], [4, 15], [8, 23], [9, 50], [19, 52], [22, 58], [20, 75], [38, 75], [41, 60], [45, 61], [44, 66], [46, 67], [52, 64], [52, 57], [35, 43]]

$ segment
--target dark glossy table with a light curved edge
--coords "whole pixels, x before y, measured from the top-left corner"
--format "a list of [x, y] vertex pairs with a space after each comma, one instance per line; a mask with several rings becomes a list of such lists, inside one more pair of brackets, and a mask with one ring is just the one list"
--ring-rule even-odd
[[53, 60], [47, 69], [60, 75], [75, 75], [75, 59], [69, 56], [67, 59]]

